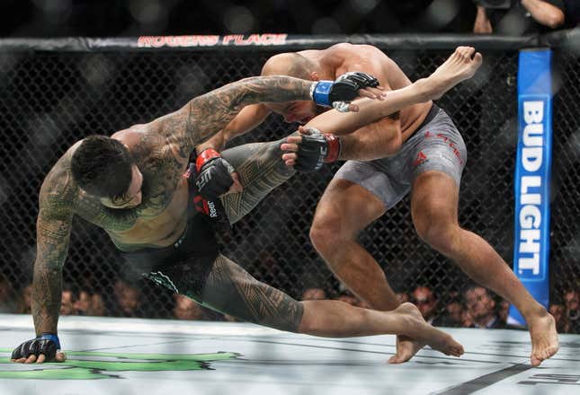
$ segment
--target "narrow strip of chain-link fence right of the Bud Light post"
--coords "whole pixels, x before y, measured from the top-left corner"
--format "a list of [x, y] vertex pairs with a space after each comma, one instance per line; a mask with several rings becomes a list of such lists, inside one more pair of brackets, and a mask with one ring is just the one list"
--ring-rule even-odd
[[580, 55], [557, 49], [553, 64], [550, 303], [567, 312], [567, 330], [580, 333]]

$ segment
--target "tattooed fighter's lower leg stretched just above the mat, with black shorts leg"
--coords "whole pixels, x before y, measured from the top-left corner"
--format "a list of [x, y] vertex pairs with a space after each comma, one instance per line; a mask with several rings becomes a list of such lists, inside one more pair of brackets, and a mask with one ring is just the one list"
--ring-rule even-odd
[[414, 304], [378, 312], [339, 301], [299, 302], [223, 255], [210, 268], [193, 262], [155, 276], [149, 278], [212, 310], [267, 327], [332, 338], [402, 334], [448, 355], [463, 354], [461, 345], [425, 322]]

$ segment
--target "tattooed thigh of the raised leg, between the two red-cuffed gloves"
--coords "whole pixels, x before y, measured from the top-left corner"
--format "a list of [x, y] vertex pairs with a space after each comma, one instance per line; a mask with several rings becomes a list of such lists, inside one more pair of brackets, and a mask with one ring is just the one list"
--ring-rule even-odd
[[284, 140], [238, 145], [221, 153], [234, 166], [244, 186], [242, 192], [221, 198], [231, 224], [252, 211], [272, 189], [296, 172], [281, 159], [280, 145]]

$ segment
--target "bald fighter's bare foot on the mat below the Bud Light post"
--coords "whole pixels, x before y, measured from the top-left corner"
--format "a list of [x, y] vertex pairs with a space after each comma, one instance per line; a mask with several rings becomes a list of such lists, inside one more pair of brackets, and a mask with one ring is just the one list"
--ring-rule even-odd
[[531, 337], [531, 365], [540, 366], [541, 362], [558, 353], [558, 332], [556, 320], [549, 312], [528, 320]]

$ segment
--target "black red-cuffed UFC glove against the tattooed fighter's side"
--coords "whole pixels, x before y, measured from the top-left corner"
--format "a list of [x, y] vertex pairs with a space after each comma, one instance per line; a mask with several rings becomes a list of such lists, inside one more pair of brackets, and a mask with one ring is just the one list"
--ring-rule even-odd
[[195, 185], [198, 193], [208, 200], [215, 200], [228, 192], [234, 184], [230, 173], [234, 167], [221, 157], [218, 151], [208, 148], [195, 160]]

